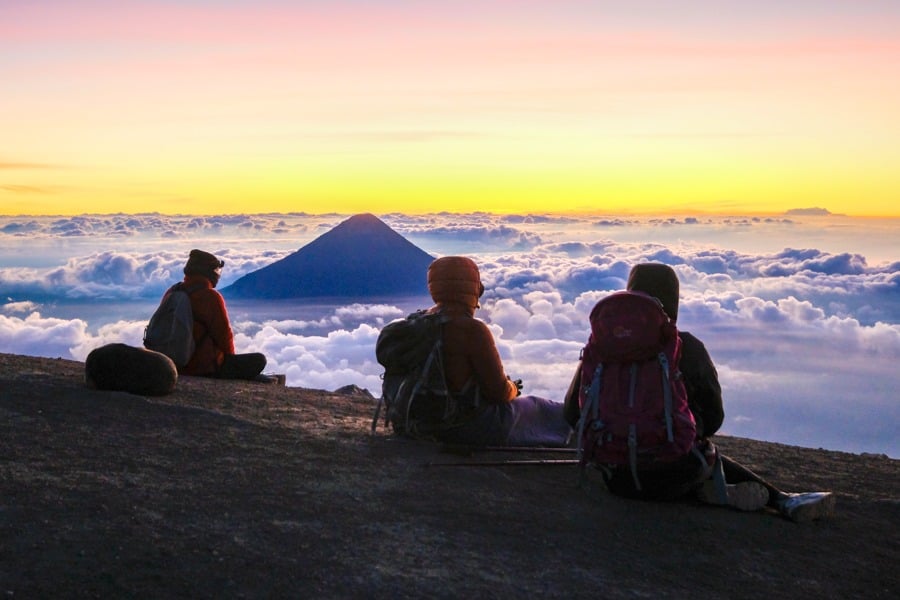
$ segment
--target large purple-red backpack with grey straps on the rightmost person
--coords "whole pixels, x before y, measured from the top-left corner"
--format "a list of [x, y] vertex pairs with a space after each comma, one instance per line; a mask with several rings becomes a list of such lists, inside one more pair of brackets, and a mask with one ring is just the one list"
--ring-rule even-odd
[[616, 292], [591, 311], [581, 355], [578, 452], [582, 466], [639, 472], [690, 452], [694, 415], [678, 369], [681, 338], [656, 298]]

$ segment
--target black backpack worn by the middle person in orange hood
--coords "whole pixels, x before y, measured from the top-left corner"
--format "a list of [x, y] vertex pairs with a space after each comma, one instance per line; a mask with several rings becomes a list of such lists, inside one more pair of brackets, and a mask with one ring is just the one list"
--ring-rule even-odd
[[388, 323], [375, 342], [375, 358], [384, 367], [381, 398], [375, 407], [372, 432], [382, 404], [385, 426], [394, 433], [430, 438], [459, 422], [460, 409], [447, 389], [443, 364], [443, 314], [415, 312]]

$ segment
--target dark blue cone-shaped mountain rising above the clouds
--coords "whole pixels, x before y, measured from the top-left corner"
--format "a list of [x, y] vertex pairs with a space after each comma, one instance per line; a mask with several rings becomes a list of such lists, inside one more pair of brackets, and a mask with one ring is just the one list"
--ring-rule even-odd
[[259, 299], [424, 295], [432, 260], [384, 221], [362, 213], [222, 293]]

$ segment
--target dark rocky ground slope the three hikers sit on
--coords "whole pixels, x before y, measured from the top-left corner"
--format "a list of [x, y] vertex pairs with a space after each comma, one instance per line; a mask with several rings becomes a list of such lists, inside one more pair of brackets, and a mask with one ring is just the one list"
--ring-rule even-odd
[[[372, 436], [371, 398], [182, 378], [145, 398], [0, 354], [7, 598], [897, 598], [900, 461], [719, 437], [838, 513], [630, 502], [560, 454]], [[478, 465], [441, 466], [474, 462]]]

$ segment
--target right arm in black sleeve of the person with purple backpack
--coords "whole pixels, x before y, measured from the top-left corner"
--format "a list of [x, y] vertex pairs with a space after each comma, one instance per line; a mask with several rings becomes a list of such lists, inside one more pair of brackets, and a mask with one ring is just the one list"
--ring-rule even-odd
[[719, 374], [703, 342], [685, 331], [681, 332], [681, 342], [681, 373], [697, 421], [697, 435], [709, 437], [725, 420]]

